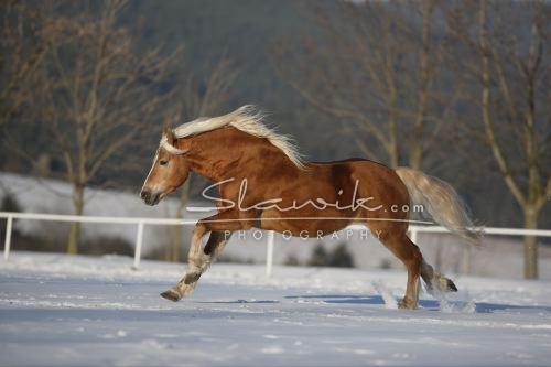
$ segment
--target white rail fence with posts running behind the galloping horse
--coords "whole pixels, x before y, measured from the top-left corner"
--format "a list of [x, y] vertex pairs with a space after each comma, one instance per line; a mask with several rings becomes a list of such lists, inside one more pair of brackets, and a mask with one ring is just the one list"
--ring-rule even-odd
[[[195, 209], [194, 212], [208, 212]], [[104, 224], [121, 224], [121, 225], [136, 225], [136, 246], [134, 246], [134, 260], [132, 269], [138, 269], [140, 266], [141, 250], [143, 246], [143, 229], [144, 226], [191, 226], [195, 225], [195, 219], [170, 219], [170, 218], [131, 218], [131, 217], [104, 217], [104, 216], [75, 216], [75, 215], [61, 215], [61, 214], [40, 214], [40, 213], [15, 213], [15, 212], [0, 212], [0, 218], [6, 218], [6, 238], [3, 257], [8, 261], [10, 257], [11, 247], [11, 233], [13, 228], [13, 219], [28, 219], [28, 220], [50, 220], [50, 222], [79, 222], [79, 223], [104, 223]], [[361, 225], [352, 225], [352, 229], [365, 229]], [[426, 234], [445, 234], [449, 230], [440, 226], [410, 226], [410, 238], [413, 242], [417, 241], [417, 235], [420, 233]], [[537, 237], [551, 237], [549, 229], [520, 229], [520, 228], [483, 228], [485, 235], [497, 236], [537, 236]], [[266, 274], [270, 277], [272, 273], [273, 265], [273, 242], [274, 234], [270, 231], [267, 240], [266, 251]]]

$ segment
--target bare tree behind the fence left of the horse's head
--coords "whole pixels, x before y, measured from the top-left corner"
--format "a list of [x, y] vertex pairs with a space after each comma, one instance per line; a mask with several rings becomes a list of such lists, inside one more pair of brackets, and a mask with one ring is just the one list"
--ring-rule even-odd
[[[41, 123], [54, 138], [52, 152], [73, 185], [76, 215], [84, 211], [85, 187], [116, 152], [140, 138], [145, 123], [159, 119], [171, 96], [162, 83], [174, 55], [162, 56], [160, 48], [138, 53], [130, 32], [118, 23], [123, 7], [125, 1], [54, 2], [43, 10], [47, 52], [34, 97]], [[77, 252], [79, 231], [74, 224], [67, 252]]]

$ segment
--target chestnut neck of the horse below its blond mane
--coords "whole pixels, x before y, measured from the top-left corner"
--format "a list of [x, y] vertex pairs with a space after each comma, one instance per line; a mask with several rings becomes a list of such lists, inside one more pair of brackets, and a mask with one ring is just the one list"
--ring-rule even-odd
[[288, 160], [283, 152], [266, 139], [234, 128], [213, 130], [192, 139], [192, 170], [215, 182], [240, 175], [242, 172], [235, 172], [240, 163], [258, 159], [261, 150], [271, 150], [274, 155]]

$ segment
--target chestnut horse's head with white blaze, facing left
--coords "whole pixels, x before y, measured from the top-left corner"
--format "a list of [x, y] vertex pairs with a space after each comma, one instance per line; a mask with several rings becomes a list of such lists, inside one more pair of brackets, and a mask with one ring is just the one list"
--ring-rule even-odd
[[190, 174], [190, 162], [185, 156], [187, 149], [175, 145], [174, 132], [172, 129], [164, 129], [153, 165], [140, 192], [140, 197], [148, 205], [158, 204], [180, 187]]

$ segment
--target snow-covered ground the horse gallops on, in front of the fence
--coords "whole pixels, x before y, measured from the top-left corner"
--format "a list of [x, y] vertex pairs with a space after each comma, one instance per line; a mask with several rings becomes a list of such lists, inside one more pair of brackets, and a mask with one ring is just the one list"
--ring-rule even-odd
[[14, 252], [0, 262], [0, 365], [547, 365], [551, 283], [455, 277], [396, 310], [403, 271], [215, 263], [190, 300], [182, 265]]

